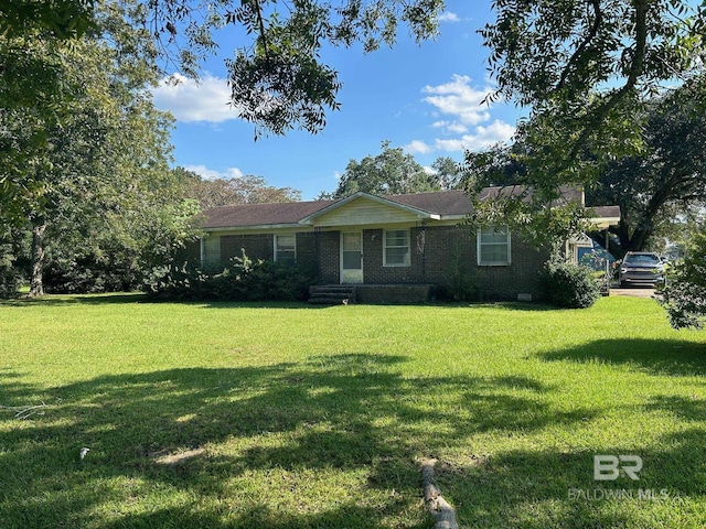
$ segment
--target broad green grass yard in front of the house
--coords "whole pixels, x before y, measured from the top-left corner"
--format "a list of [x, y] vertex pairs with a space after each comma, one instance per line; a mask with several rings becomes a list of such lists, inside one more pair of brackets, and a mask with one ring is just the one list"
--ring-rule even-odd
[[0, 527], [428, 528], [427, 457], [466, 528], [706, 527], [706, 332], [652, 300], [143, 301], [0, 303]]

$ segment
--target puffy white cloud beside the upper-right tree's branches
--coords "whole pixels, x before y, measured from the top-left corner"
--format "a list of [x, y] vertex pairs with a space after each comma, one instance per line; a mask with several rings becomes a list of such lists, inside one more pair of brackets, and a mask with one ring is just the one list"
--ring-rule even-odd
[[466, 75], [453, 75], [449, 83], [438, 86], [425, 86], [421, 91], [430, 94], [424, 101], [436, 107], [440, 114], [453, 116], [464, 125], [478, 125], [490, 119], [490, 107], [482, 105], [485, 96], [493, 91], [490, 87], [473, 88], [471, 78]]

